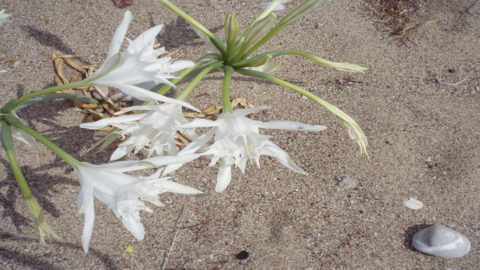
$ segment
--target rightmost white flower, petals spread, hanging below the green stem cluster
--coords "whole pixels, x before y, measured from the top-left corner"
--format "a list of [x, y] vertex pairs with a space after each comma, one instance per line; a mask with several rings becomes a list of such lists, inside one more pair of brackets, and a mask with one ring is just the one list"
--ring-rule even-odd
[[[259, 128], [299, 130], [299, 131], [323, 131], [324, 126], [310, 126], [291, 121], [261, 122], [244, 117], [258, 110], [268, 107], [256, 107], [251, 109], [236, 110], [233, 113], [223, 113], [216, 121], [196, 119], [190, 123], [176, 126], [175, 128], [197, 128], [213, 127], [196, 140], [187, 145], [180, 153], [181, 155], [195, 153], [200, 147], [215, 136], [215, 143], [208, 148], [203, 155], [211, 158], [210, 166], [220, 161], [220, 169], [217, 176], [217, 185], [215, 190], [221, 192], [225, 190], [231, 180], [231, 167], [239, 167], [242, 173], [245, 170], [247, 160], [253, 160], [260, 167], [259, 159], [261, 155], [272, 156], [282, 165], [296, 172], [304, 173], [295, 165], [285, 151], [270, 142], [270, 136], [260, 135]], [[164, 175], [180, 168], [183, 164], [171, 162], [164, 171]]]

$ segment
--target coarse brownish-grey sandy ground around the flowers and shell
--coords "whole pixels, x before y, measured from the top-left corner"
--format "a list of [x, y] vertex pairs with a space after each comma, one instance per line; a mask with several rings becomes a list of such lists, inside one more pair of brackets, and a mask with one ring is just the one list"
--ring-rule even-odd
[[[236, 13], [243, 31], [261, 12], [262, 2], [174, 1], [222, 39], [228, 12]], [[287, 4], [277, 16], [299, 2]], [[323, 133], [263, 131], [308, 175], [263, 157], [261, 169], [249, 164], [244, 175], [234, 170], [228, 189], [215, 193], [218, 166], [207, 167], [209, 160], [201, 158], [179, 170], [175, 179], [205, 194], [162, 196], [166, 207], [141, 215], [147, 231], [143, 241], [96, 201], [95, 230], [85, 254], [83, 215], [76, 216], [75, 205], [80, 186], [72, 169], [53, 153], [42, 156], [16, 143], [32, 192], [61, 237], [42, 245], [1, 151], [0, 266], [160, 269], [169, 253], [166, 269], [480, 268], [480, 4], [464, 12], [474, 1], [449, 2], [421, 2], [415, 15], [421, 24], [409, 34], [416, 45], [399, 46], [378, 31], [373, 25], [377, 18], [365, 12], [363, 1], [328, 1], [277, 35], [261, 51], [297, 49], [369, 68], [365, 74], [348, 74], [286, 56], [276, 59], [286, 65], [275, 75], [352, 116], [369, 140], [370, 158], [360, 155], [337, 118], [313, 102], [272, 83], [236, 76], [233, 97], [272, 107], [255, 119], [328, 127]], [[0, 78], [0, 105], [53, 84], [53, 51], [82, 55], [89, 64], [104, 61], [124, 12], [110, 0], [4, 0], [0, 9], [13, 14], [1, 27], [0, 57], [22, 60], [15, 69], [1, 67], [8, 72]], [[178, 50], [176, 57], [195, 60], [205, 53], [201, 39], [161, 4], [137, 0], [127, 9], [134, 14], [128, 37], [165, 24], [158, 41]], [[432, 19], [440, 21], [422, 23]], [[338, 87], [335, 80], [344, 84]], [[221, 75], [211, 75], [188, 102], [202, 109], [220, 105], [220, 89]], [[203, 93], [208, 95], [194, 98]], [[47, 101], [19, 115], [79, 160], [109, 160], [112, 151], [86, 152], [103, 133], [80, 129], [85, 116], [71, 102]], [[339, 188], [339, 179], [346, 176], [358, 185]], [[414, 211], [403, 206], [410, 197], [425, 207]], [[413, 233], [431, 224], [467, 236], [470, 253], [440, 259], [415, 251]], [[124, 251], [127, 246], [133, 246], [133, 253]], [[250, 253], [247, 260], [235, 258], [242, 250]]]

